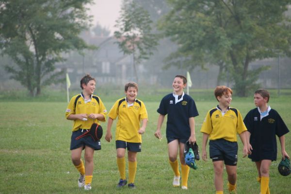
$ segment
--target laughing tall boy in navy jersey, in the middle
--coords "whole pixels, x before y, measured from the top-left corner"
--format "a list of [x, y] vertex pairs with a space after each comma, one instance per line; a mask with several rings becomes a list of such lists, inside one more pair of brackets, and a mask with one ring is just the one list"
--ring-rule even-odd
[[163, 97], [158, 113], [157, 131], [155, 136], [162, 139], [161, 127], [165, 115], [167, 116], [166, 137], [168, 142], [169, 162], [174, 171], [173, 186], [180, 186], [180, 173], [178, 168], [178, 150], [181, 162], [182, 189], [188, 189], [189, 166], [185, 163], [184, 147], [186, 141], [196, 142], [194, 117], [198, 116], [198, 111], [191, 96], [184, 93], [187, 79], [182, 75], [176, 75], [173, 81], [173, 93]]

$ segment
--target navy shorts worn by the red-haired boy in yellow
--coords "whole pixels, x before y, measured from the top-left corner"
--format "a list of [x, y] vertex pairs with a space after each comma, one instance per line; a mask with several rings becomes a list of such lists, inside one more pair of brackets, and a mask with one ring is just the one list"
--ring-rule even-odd
[[224, 160], [226, 165], [236, 166], [238, 161], [238, 143], [225, 139], [209, 141], [209, 155], [212, 161]]

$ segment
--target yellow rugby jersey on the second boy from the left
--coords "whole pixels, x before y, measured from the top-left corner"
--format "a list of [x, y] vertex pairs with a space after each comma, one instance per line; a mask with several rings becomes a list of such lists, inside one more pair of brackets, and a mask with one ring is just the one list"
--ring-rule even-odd
[[117, 100], [108, 113], [108, 117], [115, 120], [116, 123], [115, 141], [128, 141], [133, 143], [141, 143], [142, 136], [138, 133], [140, 121], [147, 119], [147, 111], [145, 104], [135, 99], [132, 106], [128, 106], [126, 98]]

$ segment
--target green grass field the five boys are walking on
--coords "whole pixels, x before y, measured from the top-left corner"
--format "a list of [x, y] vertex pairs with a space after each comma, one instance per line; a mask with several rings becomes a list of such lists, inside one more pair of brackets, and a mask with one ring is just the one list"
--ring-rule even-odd
[[[167, 92], [161, 94], [164, 95]], [[204, 98], [191, 93], [196, 101], [199, 116], [195, 118], [196, 138], [201, 146], [202, 134], [199, 132], [207, 111], [216, 106], [214, 98]], [[212, 94], [213, 95], [213, 94]], [[106, 99], [109, 110], [112, 97]], [[115, 97], [115, 99], [117, 99]], [[209, 159], [198, 161], [198, 169], [190, 170], [188, 190], [172, 187], [173, 172], [167, 157], [166, 138], [162, 141], [154, 137], [159, 106], [158, 100], [140, 97], [147, 106], [149, 122], [143, 135], [143, 151], [138, 154], [136, 190], [116, 189], [119, 173], [116, 166], [114, 142], [102, 138], [102, 150], [95, 152], [92, 191], [95, 194], [213, 194], [213, 168]], [[148, 99], [148, 100], [147, 100]], [[274, 97], [270, 106], [276, 109], [291, 129], [291, 97]], [[25, 100], [26, 101], [26, 100]], [[104, 101], [104, 100], [103, 100]], [[244, 117], [254, 107], [252, 97], [233, 98], [231, 104], [238, 108]], [[72, 121], [65, 120], [65, 102], [0, 102], [0, 194], [78, 194], [84, 193], [77, 186], [78, 172], [70, 160], [70, 135]], [[114, 124], [116, 121], [114, 122]], [[102, 123], [106, 129], [106, 123]], [[163, 124], [165, 135], [165, 122]], [[114, 126], [113, 126], [114, 134]], [[279, 144], [278, 144], [279, 145]], [[277, 171], [281, 158], [278, 146], [278, 160], [270, 169], [270, 190], [272, 194], [290, 193], [291, 175], [283, 177]], [[286, 150], [291, 156], [291, 133], [286, 135]], [[256, 180], [257, 170], [250, 159], [242, 159], [242, 144], [239, 141], [238, 194], [259, 194]], [[225, 192], [226, 188], [226, 172]]]

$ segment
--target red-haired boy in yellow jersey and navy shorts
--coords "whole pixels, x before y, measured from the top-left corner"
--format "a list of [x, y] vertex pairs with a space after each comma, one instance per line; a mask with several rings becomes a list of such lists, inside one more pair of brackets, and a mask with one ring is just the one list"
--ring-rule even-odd
[[243, 157], [247, 156], [246, 127], [242, 115], [236, 108], [230, 107], [232, 90], [218, 86], [214, 91], [218, 106], [206, 115], [201, 127], [203, 133], [202, 159], [207, 160], [206, 144], [209, 138], [210, 158], [214, 167], [214, 185], [216, 194], [223, 194], [223, 163], [226, 166], [228, 191], [236, 194], [237, 180], [237, 133], [243, 143]]

